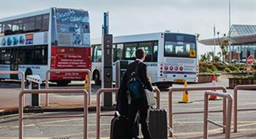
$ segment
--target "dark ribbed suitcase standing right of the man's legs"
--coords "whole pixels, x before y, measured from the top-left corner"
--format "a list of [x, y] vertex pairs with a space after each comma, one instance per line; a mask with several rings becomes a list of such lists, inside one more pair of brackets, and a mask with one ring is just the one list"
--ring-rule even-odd
[[150, 109], [148, 130], [151, 134], [151, 139], [167, 139], [167, 113], [165, 109]]

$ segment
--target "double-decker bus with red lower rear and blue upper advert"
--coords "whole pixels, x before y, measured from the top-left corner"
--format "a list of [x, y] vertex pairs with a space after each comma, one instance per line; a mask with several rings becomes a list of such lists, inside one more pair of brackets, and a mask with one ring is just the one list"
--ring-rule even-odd
[[[52, 7], [0, 19], [0, 52], [0, 71], [37, 74], [43, 81], [48, 69], [91, 68], [89, 13]], [[84, 73], [50, 74], [58, 84], [82, 79]]]

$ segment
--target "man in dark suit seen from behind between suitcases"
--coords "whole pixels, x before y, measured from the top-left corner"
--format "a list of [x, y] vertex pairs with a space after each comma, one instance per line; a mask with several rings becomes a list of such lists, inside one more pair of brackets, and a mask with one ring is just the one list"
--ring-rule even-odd
[[[146, 119], [148, 117], [148, 103], [146, 100], [145, 89], [149, 91], [154, 91], [154, 87], [151, 85], [151, 82], [148, 80], [147, 75], [147, 65], [143, 63], [145, 60], [146, 54], [144, 49], [137, 49], [135, 52], [136, 60], [129, 65], [127, 65], [127, 72], [125, 74], [126, 78], [124, 83], [127, 83], [129, 86], [129, 80], [134, 74], [137, 74], [138, 79], [141, 82], [142, 89], [139, 91], [140, 95], [134, 96], [131, 92], [129, 92], [130, 99], [128, 99], [129, 110], [128, 110], [128, 135], [129, 139], [137, 139], [137, 135], [135, 134], [134, 124], [135, 118], [139, 112], [139, 119], [141, 124], [141, 132], [143, 134], [144, 139], [151, 139], [151, 135], [148, 131], [148, 124]], [[128, 87], [129, 90], [129, 87]]]

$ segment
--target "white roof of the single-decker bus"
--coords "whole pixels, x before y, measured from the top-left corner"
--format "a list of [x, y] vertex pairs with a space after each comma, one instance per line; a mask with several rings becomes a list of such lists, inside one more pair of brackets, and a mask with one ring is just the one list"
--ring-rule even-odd
[[[141, 34], [134, 34], [134, 35], [126, 35], [126, 36], [113, 36], [113, 43], [132, 42], [132, 41], [156, 41], [161, 39], [161, 35], [164, 33], [175, 33], [175, 32], [141, 33]], [[189, 34], [189, 33], [175, 33], [175, 34], [195, 36], [194, 34]], [[101, 44], [101, 43], [102, 43], [101, 38], [91, 39], [91, 44]]]

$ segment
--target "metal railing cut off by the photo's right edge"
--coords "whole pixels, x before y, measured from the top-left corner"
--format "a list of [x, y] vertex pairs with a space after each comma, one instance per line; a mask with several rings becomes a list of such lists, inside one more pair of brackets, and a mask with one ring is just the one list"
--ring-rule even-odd
[[[256, 85], [237, 85], [234, 88], [234, 132], [237, 132], [237, 121], [238, 121], [238, 90], [255, 90]], [[256, 111], [255, 108], [239, 109], [239, 111]]]

